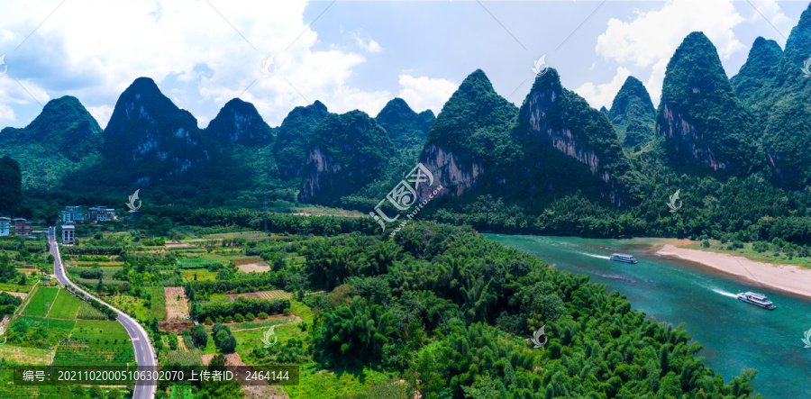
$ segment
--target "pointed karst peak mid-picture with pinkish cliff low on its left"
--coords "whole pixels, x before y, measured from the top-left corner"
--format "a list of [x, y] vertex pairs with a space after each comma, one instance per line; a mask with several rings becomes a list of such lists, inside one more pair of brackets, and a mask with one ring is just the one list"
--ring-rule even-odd
[[441, 195], [457, 196], [476, 188], [502, 158], [494, 147], [511, 140], [516, 111], [480, 69], [465, 78], [428, 133], [420, 162], [432, 171], [434, 184], [420, 186], [419, 198], [428, 198], [436, 186], [446, 189]]

